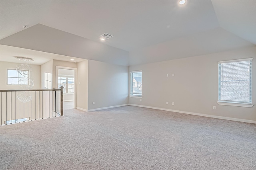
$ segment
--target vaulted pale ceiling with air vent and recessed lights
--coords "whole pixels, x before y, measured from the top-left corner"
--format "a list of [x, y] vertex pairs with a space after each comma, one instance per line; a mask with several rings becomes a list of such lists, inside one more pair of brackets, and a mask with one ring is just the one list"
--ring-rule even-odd
[[[0, 6], [1, 45], [126, 66], [256, 45], [255, 0], [182, 6], [178, 0], [1, 0]], [[114, 37], [101, 41], [103, 33]]]

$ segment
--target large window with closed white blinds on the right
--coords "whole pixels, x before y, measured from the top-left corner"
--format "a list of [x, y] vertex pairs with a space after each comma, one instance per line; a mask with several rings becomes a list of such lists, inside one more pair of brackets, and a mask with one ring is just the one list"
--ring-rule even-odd
[[220, 61], [218, 100], [252, 104], [252, 58]]

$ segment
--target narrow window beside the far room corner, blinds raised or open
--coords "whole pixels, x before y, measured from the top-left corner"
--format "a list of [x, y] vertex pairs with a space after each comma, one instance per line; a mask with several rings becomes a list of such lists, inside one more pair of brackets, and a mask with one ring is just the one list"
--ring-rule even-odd
[[142, 96], [142, 71], [131, 72], [131, 94], [130, 96]]

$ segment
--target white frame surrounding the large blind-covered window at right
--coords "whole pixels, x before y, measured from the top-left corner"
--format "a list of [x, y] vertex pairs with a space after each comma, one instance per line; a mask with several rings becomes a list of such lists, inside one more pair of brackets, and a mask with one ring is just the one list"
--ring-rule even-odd
[[[218, 105], [226, 105], [226, 106], [240, 106], [240, 107], [252, 107], [254, 104], [252, 104], [252, 59], [253, 58], [247, 58], [247, 59], [237, 59], [237, 60], [229, 60], [229, 61], [218, 61]], [[243, 102], [243, 101], [232, 101], [232, 100], [221, 100], [221, 69], [220, 66], [223, 63], [235, 63], [235, 62], [242, 62], [242, 61], [250, 61], [250, 67], [249, 67], [249, 102]]]

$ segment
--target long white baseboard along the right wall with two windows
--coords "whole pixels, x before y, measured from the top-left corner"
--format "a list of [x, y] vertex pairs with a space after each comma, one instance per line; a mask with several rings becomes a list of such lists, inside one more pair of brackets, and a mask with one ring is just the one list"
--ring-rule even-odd
[[232, 118], [232, 117], [223, 117], [223, 116], [215, 116], [215, 115], [206, 115], [206, 114], [201, 114], [201, 113], [194, 113], [194, 112], [189, 112], [189, 111], [180, 111], [180, 110], [173, 110], [173, 109], [164, 109], [160, 107], [151, 107], [151, 106], [144, 106], [144, 105], [138, 105], [138, 104], [128, 104], [130, 106], [137, 106], [137, 107], [146, 107], [150, 109], [158, 109], [158, 110], [165, 110], [165, 111], [173, 111], [173, 112], [178, 112], [178, 113], [185, 113], [185, 114], [190, 114], [190, 115], [197, 115], [197, 116], [204, 116], [204, 117], [212, 117], [216, 119], [225, 119], [225, 120], [232, 120], [232, 121], [240, 121], [240, 122], [245, 122], [245, 123], [255, 123], [256, 121], [253, 120], [247, 120], [247, 119], [237, 119], [237, 118]]

